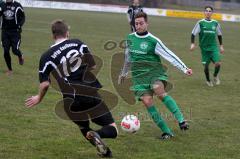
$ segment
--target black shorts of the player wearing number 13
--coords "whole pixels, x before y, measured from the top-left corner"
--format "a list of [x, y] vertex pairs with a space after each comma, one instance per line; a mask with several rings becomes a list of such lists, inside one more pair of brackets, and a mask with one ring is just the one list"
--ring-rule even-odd
[[111, 112], [98, 93], [95, 97], [64, 96], [64, 108], [70, 120], [79, 127], [89, 127], [89, 121], [106, 126], [114, 123]]

